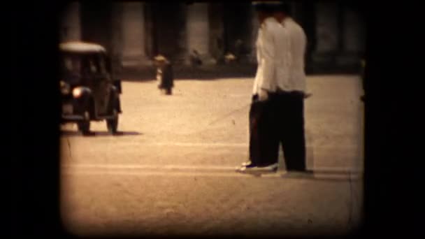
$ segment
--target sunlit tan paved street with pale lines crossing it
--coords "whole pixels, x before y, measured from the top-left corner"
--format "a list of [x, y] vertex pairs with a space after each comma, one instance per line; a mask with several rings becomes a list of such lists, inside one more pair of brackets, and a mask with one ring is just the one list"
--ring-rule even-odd
[[[236, 173], [248, 156], [252, 78], [122, 84], [119, 136], [62, 126], [62, 215], [79, 235], [347, 233], [361, 222], [363, 104], [356, 75], [308, 78], [313, 177]], [[351, 173], [350, 173], [351, 172]]]

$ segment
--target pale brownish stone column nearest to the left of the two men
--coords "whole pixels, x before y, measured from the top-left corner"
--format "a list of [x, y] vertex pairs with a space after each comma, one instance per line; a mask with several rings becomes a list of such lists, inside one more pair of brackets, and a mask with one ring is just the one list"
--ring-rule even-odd
[[199, 52], [203, 64], [212, 64], [208, 18], [208, 3], [192, 3], [187, 6], [187, 53], [189, 55], [193, 50]]

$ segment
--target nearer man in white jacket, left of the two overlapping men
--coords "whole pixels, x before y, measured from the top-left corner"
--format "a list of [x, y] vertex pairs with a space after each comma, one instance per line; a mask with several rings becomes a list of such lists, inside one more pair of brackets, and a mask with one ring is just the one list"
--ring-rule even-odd
[[[279, 2], [277, 2], [279, 3]], [[250, 160], [238, 171], [275, 171], [273, 104], [269, 96], [291, 85], [289, 34], [273, 17], [276, 2], [254, 3], [261, 24], [257, 37], [257, 74], [250, 109]]]

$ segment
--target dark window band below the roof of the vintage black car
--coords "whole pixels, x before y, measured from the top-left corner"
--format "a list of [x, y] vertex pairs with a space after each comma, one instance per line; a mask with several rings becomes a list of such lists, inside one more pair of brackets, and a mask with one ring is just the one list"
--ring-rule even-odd
[[107, 73], [106, 61], [100, 54], [64, 54], [62, 57], [62, 75], [71, 84], [78, 84], [82, 78]]

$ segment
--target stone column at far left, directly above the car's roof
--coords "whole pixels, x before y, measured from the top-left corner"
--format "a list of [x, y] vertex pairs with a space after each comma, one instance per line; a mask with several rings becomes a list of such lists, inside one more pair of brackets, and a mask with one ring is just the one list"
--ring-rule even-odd
[[81, 41], [80, 3], [71, 2], [64, 10], [60, 24], [60, 40]]

